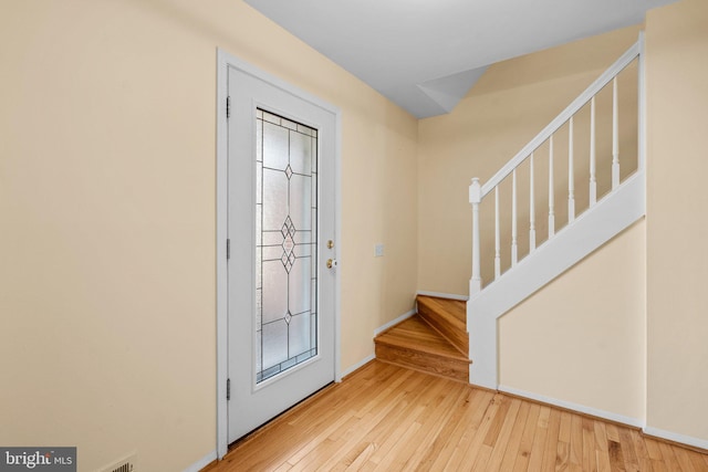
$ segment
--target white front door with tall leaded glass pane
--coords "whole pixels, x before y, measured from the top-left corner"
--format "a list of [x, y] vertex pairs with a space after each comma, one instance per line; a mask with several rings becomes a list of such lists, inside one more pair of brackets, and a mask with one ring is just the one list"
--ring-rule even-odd
[[336, 115], [228, 71], [228, 441], [335, 378]]

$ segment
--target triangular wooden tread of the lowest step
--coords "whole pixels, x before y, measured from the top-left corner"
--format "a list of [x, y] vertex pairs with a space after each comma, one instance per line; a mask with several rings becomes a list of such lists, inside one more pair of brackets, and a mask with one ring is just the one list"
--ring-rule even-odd
[[419, 315], [414, 315], [382, 333], [375, 340], [389, 346], [470, 363], [467, 356], [462, 355], [447, 338], [433, 329]]

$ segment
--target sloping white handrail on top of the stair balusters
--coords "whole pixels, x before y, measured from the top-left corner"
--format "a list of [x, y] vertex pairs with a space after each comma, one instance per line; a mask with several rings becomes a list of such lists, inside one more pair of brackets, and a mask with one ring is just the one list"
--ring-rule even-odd
[[590, 99], [596, 95], [605, 85], [610, 83], [620, 72], [622, 72], [632, 61], [641, 53], [639, 42], [634, 43], [622, 56], [614, 62], [595, 82], [593, 82], [585, 91], [577, 96], [555, 119], [541, 130], [533, 139], [529, 141], [511, 160], [499, 169], [482, 187], [481, 199], [492, 191], [501, 181], [509, 176], [513, 169], [519, 167], [521, 162], [531, 156], [546, 139], [551, 137], [561, 126], [565, 124], [573, 115], [577, 113]]

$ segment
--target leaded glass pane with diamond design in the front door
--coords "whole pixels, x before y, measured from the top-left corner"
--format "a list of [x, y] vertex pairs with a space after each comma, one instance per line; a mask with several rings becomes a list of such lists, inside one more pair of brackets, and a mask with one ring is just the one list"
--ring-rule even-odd
[[258, 109], [256, 381], [317, 354], [317, 132]]

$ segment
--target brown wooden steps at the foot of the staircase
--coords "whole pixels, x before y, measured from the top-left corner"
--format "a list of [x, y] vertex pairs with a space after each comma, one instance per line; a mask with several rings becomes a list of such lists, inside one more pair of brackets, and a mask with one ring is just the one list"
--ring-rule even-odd
[[438, 377], [469, 381], [466, 303], [418, 295], [417, 314], [374, 338], [376, 358]]

